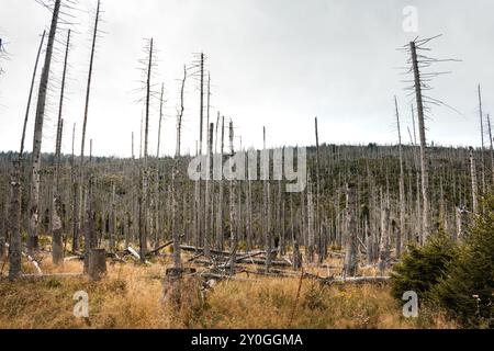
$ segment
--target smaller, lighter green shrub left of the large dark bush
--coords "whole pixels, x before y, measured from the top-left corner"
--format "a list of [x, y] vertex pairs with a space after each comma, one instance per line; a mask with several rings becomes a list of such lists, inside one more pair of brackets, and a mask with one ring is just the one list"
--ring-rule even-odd
[[404, 292], [414, 291], [420, 301], [428, 298], [434, 285], [446, 276], [456, 252], [456, 244], [445, 234], [430, 236], [423, 247], [409, 246], [402, 262], [391, 272], [393, 296], [402, 299]]

